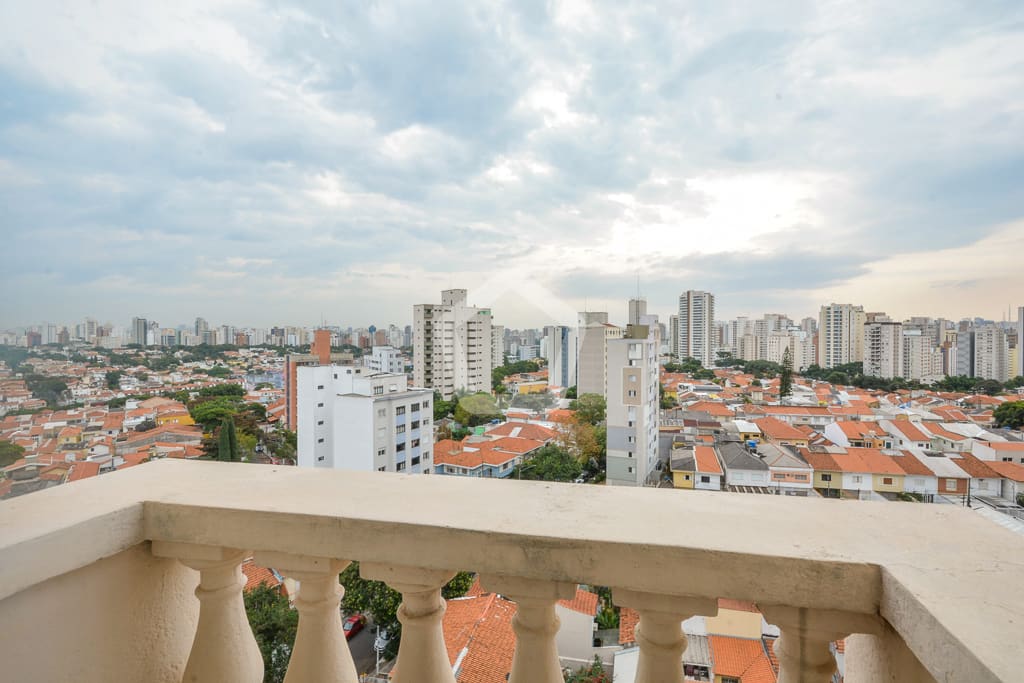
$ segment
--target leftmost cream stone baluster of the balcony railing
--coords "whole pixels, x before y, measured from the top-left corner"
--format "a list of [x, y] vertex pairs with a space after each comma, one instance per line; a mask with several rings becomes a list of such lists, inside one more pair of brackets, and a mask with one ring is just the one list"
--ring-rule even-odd
[[261, 683], [263, 657], [246, 616], [242, 562], [234, 548], [155, 541], [153, 554], [170, 557], [199, 570], [199, 625], [183, 681], [187, 683]]

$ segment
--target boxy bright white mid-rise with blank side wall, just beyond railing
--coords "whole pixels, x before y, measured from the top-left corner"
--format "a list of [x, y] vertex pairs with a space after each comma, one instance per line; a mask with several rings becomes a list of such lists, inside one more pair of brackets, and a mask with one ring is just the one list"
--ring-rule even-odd
[[299, 467], [429, 473], [433, 392], [358, 366], [297, 370]]

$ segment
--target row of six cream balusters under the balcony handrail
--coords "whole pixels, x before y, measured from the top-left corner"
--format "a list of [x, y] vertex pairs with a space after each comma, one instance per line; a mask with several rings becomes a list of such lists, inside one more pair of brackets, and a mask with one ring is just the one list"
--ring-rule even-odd
[[[153, 553], [175, 558], [200, 572], [196, 589], [199, 624], [182, 680], [260, 683], [262, 657], [242, 596], [246, 551], [155, 542]], [[299, 582], [295, 600], [299, 628], [286, 683], [357, 683], [339, 608], [344, 589], [338, 574], [349, 562], [271, 552], [257, 553], [255, 560]], [[360, 566], [360, 574], [401, 593], [398, 621], [402, 635], [394, 683], [455, 683], [441, 628], [441, 589], [455, 571], [368, 562]], [[512, 622], [516, 648], [510, 683], [560, 683], [555, 604], [571, 598], [575, 585], [499, 575], [483, 575], [481, 583], [517, 604]], [[636, 683], [682, 681], [686, 650], [682, 623], [694, 615], [716, 614], [717, 601], [622, 588], [613, 591], [613, 599], [616, 605], [635, 609], [640, 615], [635, 634], [640, 649]], [[864, 614], [784, 605], [762, 605], [761, 611], [781, 634], [774, 645], [779, 683], [827, 683], [836, 673], [833, 641], [851, 633], [881, 634], [884, 628], [881, 620]]]

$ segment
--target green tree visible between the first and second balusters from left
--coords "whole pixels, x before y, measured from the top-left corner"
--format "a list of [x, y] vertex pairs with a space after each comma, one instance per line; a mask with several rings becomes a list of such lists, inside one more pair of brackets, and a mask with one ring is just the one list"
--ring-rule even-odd
[[288, 598], [279, 589], [266, 584], [246, 591], [244, 598], [249, 624], [263, 655], [263, 683], [284, 683], [299, 613], [289, 606]]

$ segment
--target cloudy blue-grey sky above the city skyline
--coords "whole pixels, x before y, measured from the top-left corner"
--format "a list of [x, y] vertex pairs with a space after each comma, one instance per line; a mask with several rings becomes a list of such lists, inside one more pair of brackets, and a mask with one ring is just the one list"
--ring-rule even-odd
[[1024, 3], [0, 1], [0, 329], [1001, 319]]

